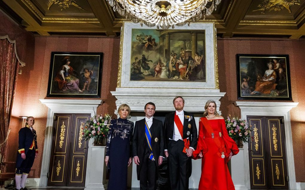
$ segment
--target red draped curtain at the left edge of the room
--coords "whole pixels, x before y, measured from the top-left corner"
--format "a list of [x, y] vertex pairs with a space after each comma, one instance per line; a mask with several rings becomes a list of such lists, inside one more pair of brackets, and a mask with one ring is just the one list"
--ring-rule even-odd
[[[0, 38], [0, 143], [5, 140], [9, 129], [18, 69], [15, 43], [11, 43], [8, 38]], [[5, 150], [4, 144], [1, 150], [2, 160]]]

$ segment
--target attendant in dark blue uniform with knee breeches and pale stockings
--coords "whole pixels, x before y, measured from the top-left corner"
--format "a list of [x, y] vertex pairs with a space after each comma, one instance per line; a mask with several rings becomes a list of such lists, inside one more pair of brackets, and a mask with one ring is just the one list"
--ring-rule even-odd
[[19, 147], [16, 160], [16, 189], [30, 190], [24, 186], [28, 174], [38, 156], [37, 135], [33, 129], [34, 117], [27, 117], [25, 127], [19, 130]]

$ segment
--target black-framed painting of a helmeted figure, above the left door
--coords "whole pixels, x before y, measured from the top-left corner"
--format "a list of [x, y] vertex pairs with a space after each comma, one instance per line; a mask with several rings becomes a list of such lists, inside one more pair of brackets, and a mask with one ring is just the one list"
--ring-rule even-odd
[[47, 97], [100, 98], [103, 53], [52, 52]]

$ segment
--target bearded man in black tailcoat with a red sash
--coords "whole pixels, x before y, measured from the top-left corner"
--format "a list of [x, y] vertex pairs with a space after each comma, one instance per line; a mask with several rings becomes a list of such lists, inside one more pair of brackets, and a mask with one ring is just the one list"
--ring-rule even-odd
[[170, 187], [172, 190], [188, 190], [188, 178], [192, 174], [192, 155], [197, 146], [197, 128], [194, 115], [185, 112], [184, 99], [173, 100], [176, 111], [165, 116], [165, 156], [168, 157]]

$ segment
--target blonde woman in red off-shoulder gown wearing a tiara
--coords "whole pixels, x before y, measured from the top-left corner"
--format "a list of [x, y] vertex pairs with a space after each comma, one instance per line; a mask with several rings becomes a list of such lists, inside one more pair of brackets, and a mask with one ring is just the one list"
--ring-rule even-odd
[[215, 101], [207, 101], [204, 109], [199, 121], [197, 149], [193, 153], [193, 159], [202, 158], [198, 190], [235, 190], [227, 163], [239, 149], [229, 137]]

